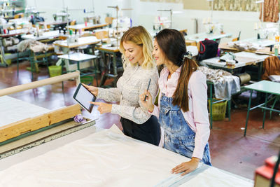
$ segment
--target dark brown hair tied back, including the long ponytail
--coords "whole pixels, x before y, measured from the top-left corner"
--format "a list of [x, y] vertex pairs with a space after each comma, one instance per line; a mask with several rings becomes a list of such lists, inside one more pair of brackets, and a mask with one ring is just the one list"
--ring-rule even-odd
[[197, 63], [194, 60], [184, 57], [186, 55], [186, 43], [181, 32], [175, 29], [163, 29], [155, 39], [159, 48], [165, 57], [174, 65], [181, 67], [181, 74], [178, 80], [177, 88], [173, 95], [172, 104], [180, 106], [186, 112], [188, 111], [188, 81], [193, 71], [197, 70]]

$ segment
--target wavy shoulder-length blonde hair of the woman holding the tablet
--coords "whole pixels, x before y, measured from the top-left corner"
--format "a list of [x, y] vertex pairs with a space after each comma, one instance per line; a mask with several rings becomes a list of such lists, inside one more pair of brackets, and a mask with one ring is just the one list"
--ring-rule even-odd
[[123, 48], [123, 42], [130, 41], [138, 46], [142, 47], [142, 52], [144, 55], [144, 62], [141, 67], [144, 69], [151, 69], [155, 67], [155, 60], [153, 60], [153, 41], [151, 35], [147, 30], [142, 27], [132, 27], [123, 34], [122, 39], [120, 39], [120, 53], [122, 53], [124, 67], [127, 66], [129, 60], [125, 57], [125, 50]]

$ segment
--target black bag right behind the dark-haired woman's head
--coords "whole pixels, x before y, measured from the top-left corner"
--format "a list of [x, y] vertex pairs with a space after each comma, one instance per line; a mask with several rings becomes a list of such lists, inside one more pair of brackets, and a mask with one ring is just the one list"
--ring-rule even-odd
[[200, 41], [200, 51], [198, 52], [198, 60], [202, 61], [211, 57], [216, 57], [218, 53], [218, 43], [214, 40], [205, 39]]

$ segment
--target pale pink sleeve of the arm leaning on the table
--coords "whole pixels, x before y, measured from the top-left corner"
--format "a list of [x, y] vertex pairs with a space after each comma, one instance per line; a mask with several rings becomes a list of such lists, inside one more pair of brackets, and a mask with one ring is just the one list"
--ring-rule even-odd
[[210, 129], [207, 109], [207, 78], [201, 71], [196, 72], [190, 81], [190, 92], [193, 100], [193, 116], [196, 126], [193, 157], [202, 159], [204, 148], [209, 139]]

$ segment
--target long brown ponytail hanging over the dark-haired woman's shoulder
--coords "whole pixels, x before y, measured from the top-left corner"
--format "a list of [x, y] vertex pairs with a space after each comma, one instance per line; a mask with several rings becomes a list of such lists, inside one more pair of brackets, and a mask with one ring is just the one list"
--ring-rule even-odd
[[191, 60], [188, 57], [183, 58], [183, 64], [181, 67], [181, 73], [178, 80], [177, 88], [173, 95], [174, 106], [178, 105], [186, 112], [189, 110], [188, 108], [188, 81], [190, 80], [190, 76], [194, 71], [197, 70], [197, 63], [194, 60]]

